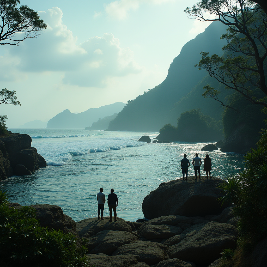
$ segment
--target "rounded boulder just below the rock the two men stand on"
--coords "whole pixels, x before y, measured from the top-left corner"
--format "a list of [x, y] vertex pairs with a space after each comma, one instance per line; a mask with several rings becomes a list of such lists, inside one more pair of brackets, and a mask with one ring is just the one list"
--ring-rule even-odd
[[138, 241], [136, 235], [126, 231], [100, 231], [96, 235], [89, 237], [87, 249], [89, 254], [104, 253], [112, 255], [112, 253], [120, 246]]

